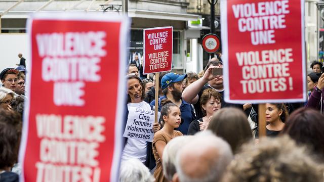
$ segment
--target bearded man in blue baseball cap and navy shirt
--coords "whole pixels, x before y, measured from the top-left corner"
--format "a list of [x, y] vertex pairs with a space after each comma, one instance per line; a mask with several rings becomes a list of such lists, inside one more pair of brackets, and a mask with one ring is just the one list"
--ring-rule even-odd
[[[158, 111], [162, 108], [160, 101], [163, 99], [168, 99], [179, 106], [182, 123], [177, 130], [182, 132], [182, 134], [187, 134], [190, 122], [196, 119], [191, 105], [181, 98], [182, 91], [185, 88], [182, 80], [186, 77], [186, 74], [179, 75], [176, 73], [164, 75], [161, 79], [161, 87], [165, 96], [158, 99]], [[151, 105], [155, 105], [155, 100], [151, 102]]]

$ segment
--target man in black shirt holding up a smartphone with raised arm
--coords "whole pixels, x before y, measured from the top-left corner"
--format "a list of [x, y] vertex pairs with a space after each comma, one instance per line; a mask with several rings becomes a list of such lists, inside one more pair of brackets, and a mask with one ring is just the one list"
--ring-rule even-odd
[[[205, 68], [205, 74], [183, 90], [182, 99], [193, 104], [197, 118], [204, 117], [200, 108], [200, 97], [207, 88], [214, 88], [222, 95], [221, 107], [236, 107], [243, 110], [243, 105], [230, 104], [224, 101], [223, 65], [217, 58], [211, 59]], [[214, 74], [213, 74], [214, 73]]]

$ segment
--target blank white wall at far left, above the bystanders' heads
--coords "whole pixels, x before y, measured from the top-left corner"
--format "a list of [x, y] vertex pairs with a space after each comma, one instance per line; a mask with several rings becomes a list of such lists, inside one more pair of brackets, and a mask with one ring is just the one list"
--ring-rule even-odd
[[19, 53], [26, 59], [26, 65], [29, 64], [27, 34], [0, 33], [0, 72], [8, 67], [16, 68], [20, 62]]

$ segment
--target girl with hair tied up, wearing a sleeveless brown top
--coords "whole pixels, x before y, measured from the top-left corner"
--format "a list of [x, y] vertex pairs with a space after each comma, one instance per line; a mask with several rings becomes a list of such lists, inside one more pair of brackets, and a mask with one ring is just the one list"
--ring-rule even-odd
[[180, 131], [174, 130], [178, 128], [181, 123], [180, 108], [169, 100], [161, 102], [161, 119], [163, 119], [164, 126], [162, 129], [154, 134], [153, 138], [153, 154], [156, 160], [156, 169], [154, 171], [154, 178], [156, 182], [168, 181], [163, 175], [163, 168], [161, 161], [163, 160], [163, 150], [171, 139], [182, 135]]

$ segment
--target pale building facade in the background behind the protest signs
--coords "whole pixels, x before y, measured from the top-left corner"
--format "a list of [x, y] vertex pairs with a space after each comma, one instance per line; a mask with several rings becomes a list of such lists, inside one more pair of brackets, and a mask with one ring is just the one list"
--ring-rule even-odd
[[[313, 60], [324, 60], [324, 24], [316, 4], [319, 0], [305, 1], [305, 43], [307, 65]], [[25, 38], [26, 21], [32, 12], [88, 12], [122, 14], [121, 0], [2, 0], [0, 1], [0, 41], [10, 39], [10, 45], [0, 44], [1, 60], [16, 61], [17, 54], [29, 57]], [[215, 5], [215, 33], [221, 37], [220, 2]], [[201, 38], [210, 33], [210, 4], [207, 0], [128, 0], [128, 16], [132, 18], [131, 41], [143, 41], [143, 29], [173, 26], [173, 71], [199, 72], [215, 55], [201, 47]], [[20, 38], [19, 38], [20, 37]], [[4, 42], [4, 41], [3, 41]], [[9, 49], [18, 49], [16, 54]], [[7, 55], [5, 53], [12, 53]], [[221, 52], [221, 49], [220, 49]], [[129, 59], [134, 53], [130, 51]], [[16, 63], [16, 62], [15, 62]], [[5, 63], [0, 63], [5, 64]], [[1, 66], [1, 65], [0, 65]], [[309, 68], [309, 66], [307, 66]], [[309, 71], [309, 69], [308, 69]]]

